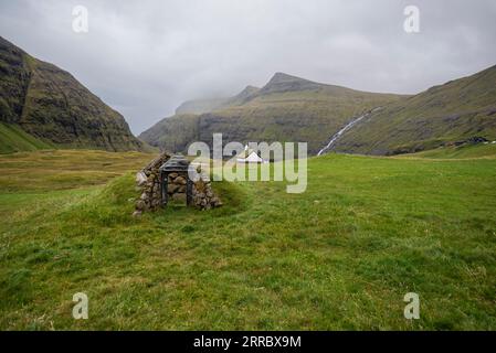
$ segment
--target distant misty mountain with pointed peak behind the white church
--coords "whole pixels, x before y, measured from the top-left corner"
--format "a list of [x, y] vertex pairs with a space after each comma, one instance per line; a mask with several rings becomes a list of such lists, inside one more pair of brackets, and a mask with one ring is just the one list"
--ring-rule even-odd
[[222, 132], [224, 142], [306, 141], [315, 154], [350, 117], [399, 99], [403, 97], [276, 73], [262, 88], [249, 86], [201, 113], [181, 108], [139, 137], [165, 150], [184, 151], [193, 141], [211, 145], [212, 133]]

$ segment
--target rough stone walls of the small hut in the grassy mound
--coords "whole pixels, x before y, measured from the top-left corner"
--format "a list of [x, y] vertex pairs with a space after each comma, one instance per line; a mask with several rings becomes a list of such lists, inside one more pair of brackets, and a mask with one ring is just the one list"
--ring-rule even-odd
[[[154, 212], [162, 208], [168, 200], [189, 202], [199, 210], [210, 210], [222, 206], [221, 200], [214, 194], [210, 179], [208, 175], [199, 171], [199, 180], [190, 181], [191, 190], [188, 197], [188, 173], [171, 172], [167, 180], [167, 194], [163, 191], [160, 180], [162, 167], [172, 158], [171, 154], [165, 152], [154, 159], [147, 167], [136, 174], [137, 191], [140, 192], [139, 199], [136, 201], [136, 210], [134, 216], [139, 216], [144, 212]], [[173, 157], [177, 158], [177, 157]]]

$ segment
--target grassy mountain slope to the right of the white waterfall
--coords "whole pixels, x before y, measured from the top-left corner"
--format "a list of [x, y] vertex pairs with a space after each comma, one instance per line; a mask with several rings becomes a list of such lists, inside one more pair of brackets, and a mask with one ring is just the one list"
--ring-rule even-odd
[[474, 137], [496, 140], [496, 66], [387, 106], [344, 133], [334, 150], [398, 154]]

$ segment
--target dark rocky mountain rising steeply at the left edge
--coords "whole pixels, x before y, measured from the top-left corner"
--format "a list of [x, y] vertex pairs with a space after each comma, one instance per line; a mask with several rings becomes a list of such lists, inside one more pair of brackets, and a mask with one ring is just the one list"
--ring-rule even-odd
[[23, 146], [109, 151], [146, 148], [120, 114], [70, 73], [32, 57], [1, 36], [0, 124], [2, 151], [23, 150]]

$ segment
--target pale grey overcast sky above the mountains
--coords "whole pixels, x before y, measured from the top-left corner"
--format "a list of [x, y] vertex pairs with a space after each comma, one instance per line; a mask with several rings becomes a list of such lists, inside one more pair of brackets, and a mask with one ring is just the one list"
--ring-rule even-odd
[[[75, 6], [88, 32], [72, 29]], [[420, 9], [420, 33], [403, 10]], [[496, 64], [495, 0], [0, 0], [0, 35], [71, 72], [137, 135], [275, 72], [418, 93]]]

